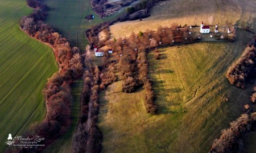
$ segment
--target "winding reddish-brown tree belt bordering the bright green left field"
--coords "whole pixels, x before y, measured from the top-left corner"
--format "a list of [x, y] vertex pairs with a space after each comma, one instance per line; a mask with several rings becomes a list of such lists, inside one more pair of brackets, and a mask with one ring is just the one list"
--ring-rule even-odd
[[[51, 46], [59, 63], [60, 71], [48, 79], [43, 90], [47, 108], [46, 118], [42, 123], [33, 126], [34, 134], [47, 138], [45, 143], [48, 145], [67, 131], [71, 123], [71, 84], [73, 80], [82, 76], [84, 70], [79, 48], [71, 48], [67, 39], [43, 22], [48, 7], [41, 2], [27, 1], [28, 6], [34, 8], [34, 11], [20, 20], [20, 28], [28, 35]], [[22, 151], [28, 150], [24, 148]]]

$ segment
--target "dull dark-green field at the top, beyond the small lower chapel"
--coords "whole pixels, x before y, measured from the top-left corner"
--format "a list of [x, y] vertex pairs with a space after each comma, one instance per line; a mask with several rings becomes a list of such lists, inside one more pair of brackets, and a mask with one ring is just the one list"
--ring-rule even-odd
[[[58, 30], [73, 46], [85, 49], [88, 44], [85, 30], [93, 25], [113, 20], [118, 14], [101, 19], [93, 12], [89, 0], [46, 0], [51, 10], [48, 11], [46, 23]], [[86, 15], [93, 14], [93, 20], [85, 20]]]

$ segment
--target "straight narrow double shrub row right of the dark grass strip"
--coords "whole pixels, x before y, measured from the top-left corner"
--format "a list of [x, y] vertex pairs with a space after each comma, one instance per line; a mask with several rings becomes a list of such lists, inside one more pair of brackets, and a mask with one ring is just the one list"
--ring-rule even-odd
[[81, 122], [73, 136], [73, 152], [100, 152], [102, 134], [97, 127], [100, 70], [97, 66], [85, 72], [81, 94]]

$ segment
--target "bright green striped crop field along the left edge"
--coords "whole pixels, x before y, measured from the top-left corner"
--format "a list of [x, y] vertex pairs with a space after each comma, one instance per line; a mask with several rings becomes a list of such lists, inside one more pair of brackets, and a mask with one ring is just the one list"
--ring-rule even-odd
[[28, 37], [18, 20], [29, 13], [26, 1], [0, 0], [0, 152], [9, 133], [22, 134], [46, 113], [42, 90], [57, 71], [52, 49]]

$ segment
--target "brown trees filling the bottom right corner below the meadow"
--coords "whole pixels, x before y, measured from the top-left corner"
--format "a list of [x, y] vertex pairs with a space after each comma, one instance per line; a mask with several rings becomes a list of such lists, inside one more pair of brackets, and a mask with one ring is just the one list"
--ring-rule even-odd
[[228, 129], [221, 132], [221, 136], [215, 139], [210, 153], [242, 152], [243, 138], [256, 128], [256, 113], [242, 114], [236, 121], [230, 123]]

